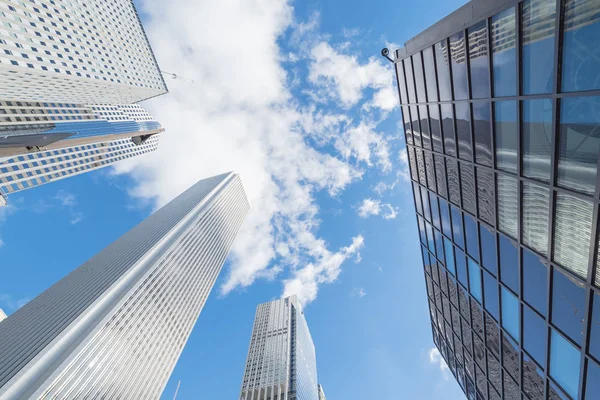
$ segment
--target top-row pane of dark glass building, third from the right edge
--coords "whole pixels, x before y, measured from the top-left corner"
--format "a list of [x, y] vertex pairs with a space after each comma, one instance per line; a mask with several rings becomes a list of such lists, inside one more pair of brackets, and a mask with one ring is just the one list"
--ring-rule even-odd
[[517, 93], [517, 52], [514, 7], [492, 17], [494, 96]]

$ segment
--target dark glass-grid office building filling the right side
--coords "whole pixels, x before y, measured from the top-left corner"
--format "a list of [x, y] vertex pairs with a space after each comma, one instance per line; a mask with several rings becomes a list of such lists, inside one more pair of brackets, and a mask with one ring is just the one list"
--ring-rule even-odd
[[600, 2], [475, 0], [396, 50], [433, 338], [470, 399], [600, 393]]

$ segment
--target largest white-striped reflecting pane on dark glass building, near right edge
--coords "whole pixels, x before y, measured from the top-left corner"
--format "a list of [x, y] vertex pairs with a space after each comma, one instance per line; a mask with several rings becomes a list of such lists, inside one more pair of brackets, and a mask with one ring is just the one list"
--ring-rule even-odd
[[590, 201], [556, 195], [554, 261], [583, 279], [587, 276], [593, 209]]

